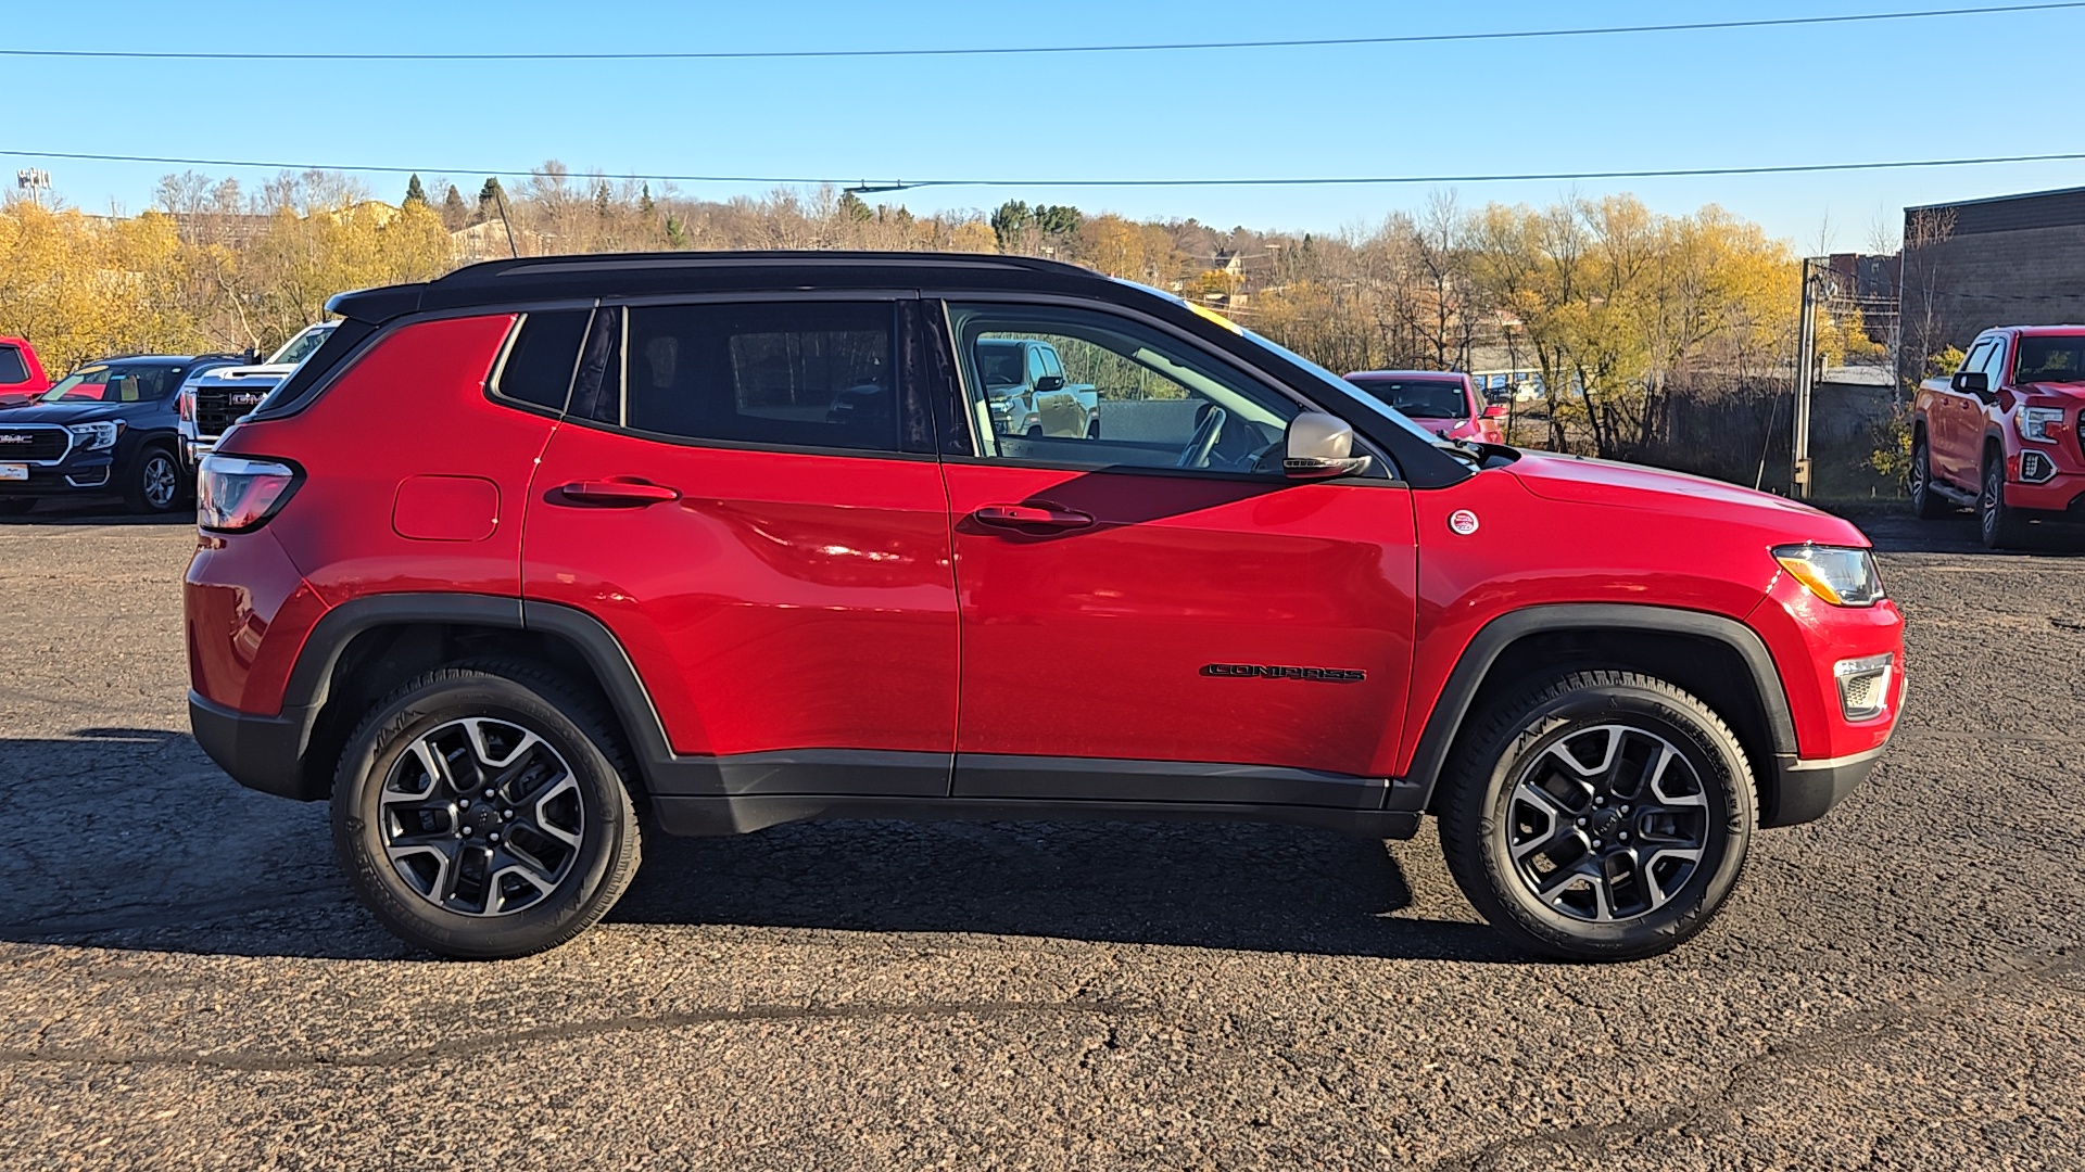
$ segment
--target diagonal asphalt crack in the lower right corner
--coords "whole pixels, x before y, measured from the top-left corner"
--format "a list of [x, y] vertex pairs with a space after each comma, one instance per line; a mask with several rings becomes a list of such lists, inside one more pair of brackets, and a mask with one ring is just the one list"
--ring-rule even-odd
[[[1539, 1147], [1564, 1147], [1587, 1157], [1589, 1162], [1610, 1162], [1614, 1157], [1614, 1145], [1618, 1143], [1628, 1143], [1655, 1132], [1681, 1132], [1683, 1128], [1708, 1120], [1714, 1112], [1728, 1112], [1747, 1084], [1762, 1082], [1764, 1074], [1774, 1068], [1801, 1070], [1804, 1066], [1818, 1064], [1820, 1059], [1829, 1066], [1831, 1061], [1845, 1057], [1849, 1047], [1864, 1047], [1883, 1036], [1906, 1034], [1931, 1020], [1943, 1018], [1964, 1001], [1989, 997], [1991, 993], [2008, 986], [2054, 982], [2081, 970], [2085, 970], [2085, 957], [2077, 955], [2075, 949], [2041, 953], [2035, 959], [1995, 972], [1985, 980], [1943, 988], [1937, 997], [1920, 999], [1916, 1005], [1895, 1003], [1851, 1014], [1799, 1041], [1770, 1045], [1764, 1053], [1733, 1066], [1724, 1074], [1720, 1089], [1699, 1095], [1691, 1103], [1676, 1103], [1643, 1120], [1576, 1124], [1568, 1128], [1516, 1134], [1493, 1141], [1476, 1151], [1451, 1155], [1437, 1162], [1432, 1168], [1434, 1172], [1480, 1172], [1487, 1168], [1499, 1168], [1505, 1155], [1514, 1151]], [[2060, 988], [2068, 986], [2060, 984]], [[1710, 1126], [1708, 1130], [1714, 1132], [1716, 1128]]]

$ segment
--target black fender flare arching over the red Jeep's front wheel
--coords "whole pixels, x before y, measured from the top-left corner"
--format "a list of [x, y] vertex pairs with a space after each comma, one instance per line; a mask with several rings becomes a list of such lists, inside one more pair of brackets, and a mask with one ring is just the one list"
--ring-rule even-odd
[[1762, 813], [1776, 809], [1783, 776], [1795, 765], [1797, 749], [1789, 697], [1781, 686], [1781, 672], [1774, 667], [1774, 657], [1766, 651], [1766, 640], [1745, 624], [1724, 615], [1641, 603], [1526, 607], [1485, 624], [1462, 651], [1455, 669], [1449, 672], [1447, 686], [1441, 688], [1441, 699], [1434, 701], [1434, 709], [1426, 717], [1426, 728], [1420, 732], [1420, 742], [1412, 753], [1405, 784], [1393, 790], [1393, 801], [1412, 803], [1412, 809], [1428, 809], [1432, 805], [1432, 795], [1447, 767], [1447, 755], [1455, 747], [1455, 736], [1470, 717], [1478, 688], [1507, 646], [1537, 634], [1591, 630], [1710, 638], [1735, 651], [1751, 676], [1751, 688], [1758, 694], [1760, 711], [1766, 715], [1766, 734], [1772, 744], [1772, 759], [1753, 763], [1764, 790], [1760, 795], [1764, 799]]

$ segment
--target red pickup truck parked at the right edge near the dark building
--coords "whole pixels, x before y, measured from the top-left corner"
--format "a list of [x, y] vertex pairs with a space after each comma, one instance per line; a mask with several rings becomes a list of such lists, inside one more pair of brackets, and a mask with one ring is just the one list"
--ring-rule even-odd
[[1983, 544], [2010, 548], [2039, 521], [2085, 521], [2085, 325], [2000, 325], [1962, 367], [1918, 386], [1912, 509], [1977, 509]]

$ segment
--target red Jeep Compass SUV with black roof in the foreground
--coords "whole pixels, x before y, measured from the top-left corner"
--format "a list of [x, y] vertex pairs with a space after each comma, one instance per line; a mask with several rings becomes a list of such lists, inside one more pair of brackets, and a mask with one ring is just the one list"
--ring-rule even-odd
[[[1643, 957], [1904, 697], [1862, 534], [1443, 440], [1178, 298], [1017, 257], [473, 265], [344, 321], [202, 465], [196, 738], [332, 799], [404, 941], [559, 945], [667, 834], [1272, 820], [1409, 838]], [[1049, 342], [1107, 432], [995, 425]]]

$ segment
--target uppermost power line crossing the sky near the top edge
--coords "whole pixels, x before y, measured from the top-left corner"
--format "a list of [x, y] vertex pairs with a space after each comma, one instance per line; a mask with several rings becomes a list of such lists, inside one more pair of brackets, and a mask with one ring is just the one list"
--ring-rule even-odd
[[1904, 13], [1849, 13], [1839, 17], [1774, 17], [1756, 21], [1689, 21], [1678, 25], [1601, 25], [1580, 29], [1514, 29], [1497, 33], [1407, 33], [1391, 38], [1297, 38], [1253, 42], [1163, 42], [1163, 44], [1057, 44], [1057, 46], [972, 46], [972, 48], [826, 48], [826, 50], [703, 50], [703, 52], [169, 52], [169, 50], [85, 50], [85, 48], [0, 48], [0, 56], [127, 58], [127, 60], [780, 60], [834, 56], [1020, 56], [1074, 52], [1199, 52], [1234, 48], [1330, 48], [1599, 38], [1616, 33], [1697, 33], [1716, 29], [1785, 29], [1804, 25], [1854, 25], [1876, 21], [1918, 21], [1929, 17], [1987, 17], [1995, 13], [2047, 13], [2085, 8], [2085, 0], [2062, 4], [2000, 4], [1987, 8], [1918, 8]]

